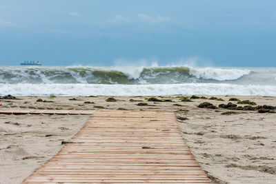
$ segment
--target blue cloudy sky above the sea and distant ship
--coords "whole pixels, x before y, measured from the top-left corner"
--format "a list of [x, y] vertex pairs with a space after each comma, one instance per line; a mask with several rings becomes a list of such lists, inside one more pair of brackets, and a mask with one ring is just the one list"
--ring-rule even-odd
[[0, 65], [276, 67], [275, 7], [275, 0], [0, 0]]

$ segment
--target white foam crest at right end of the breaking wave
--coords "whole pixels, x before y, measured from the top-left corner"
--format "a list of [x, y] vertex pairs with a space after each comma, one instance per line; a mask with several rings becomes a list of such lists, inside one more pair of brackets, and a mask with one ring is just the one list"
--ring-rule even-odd
[[190, 68], [190, 74], [197, 79], [214, 79], [217, 81], [236, 80], [250, 74], [250, 70], [222, 69], [222, 68]]

